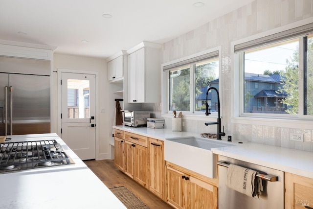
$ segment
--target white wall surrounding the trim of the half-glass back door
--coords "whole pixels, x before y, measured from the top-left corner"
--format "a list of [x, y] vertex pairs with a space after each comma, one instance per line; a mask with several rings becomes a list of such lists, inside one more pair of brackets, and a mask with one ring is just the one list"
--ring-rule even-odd
[[[99, 92], [96, 93], [99, 101], [99, 110], [105, 109], [104, 113], [99, 113], [99, 118], [96, 119], [96, 127], [99, 130], [99, 159], [110, 159], [111, 151], [109, 147], [109, 133], [111, 128], [108, 124], [111, 124], [108, 117], [108, 64], [104, 59], [90, 58], [82, 56], [72, 56], [64, 54], [54, 54], [53, 71], [58, 69], [67, 70], [84, 70], [84, 71], [96, 71], [99, 74]], [[58, 133], [58, 76], [54, 72], [53, 76], [53, 133]], [[109, 123], [110, 122], [110, 123]]]

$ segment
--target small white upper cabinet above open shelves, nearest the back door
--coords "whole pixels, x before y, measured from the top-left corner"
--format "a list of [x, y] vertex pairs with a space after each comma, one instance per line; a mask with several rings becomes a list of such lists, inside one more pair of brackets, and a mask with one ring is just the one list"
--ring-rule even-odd
[[118, 80], [124, 75], [124, 56], [121, 55], [108, 63], [108, 80]]

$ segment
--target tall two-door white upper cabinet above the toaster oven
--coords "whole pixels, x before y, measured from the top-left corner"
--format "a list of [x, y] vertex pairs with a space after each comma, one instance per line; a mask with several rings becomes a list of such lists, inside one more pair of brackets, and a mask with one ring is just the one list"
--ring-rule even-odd
[[161, 45], [142, 42], [127, 50], [128, 102], [160, 102], [160, 48]]

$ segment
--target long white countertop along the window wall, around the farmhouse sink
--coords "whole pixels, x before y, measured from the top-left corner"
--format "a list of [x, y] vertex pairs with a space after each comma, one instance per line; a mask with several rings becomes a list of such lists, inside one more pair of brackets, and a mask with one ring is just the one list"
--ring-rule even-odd
[[[113, 128], [160, 140], [191, 136], [201, 138], [200, 134], [198, 133], [172, 132], [171, 129], [134, 128], [129, 126], [113, 126]], [[207, 140], [216, 141], [217, 139]], [[232, 143], [236, 146], [212, 148], [211, 150], [214, 154], [223, 155], [225, 157], [258, 164], [313, 179], [313, 152], [306, 152], [259, 143], [251, 143], [246, 141], [243, 141], [242, 144], [239, 144], [239, 141], [236, 139], [233, 139], [232, 142], [227, 142], [227, 139], [223, 139], [221, 142]]]

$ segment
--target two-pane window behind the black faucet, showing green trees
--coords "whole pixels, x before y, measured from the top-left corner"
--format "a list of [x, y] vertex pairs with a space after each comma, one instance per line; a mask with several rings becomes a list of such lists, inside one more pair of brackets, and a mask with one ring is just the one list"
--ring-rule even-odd
[[[213, 51], [163, 67], [168, 82], [168, 111], [204, 114], [208, 86], [219, 89], [218, 55], [219, 51]], [[215, 94], [208, 93], [209, 105], [217, 102]], [[210, 109], [215, 111], [214, 107]]]

